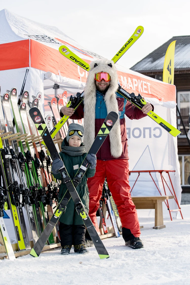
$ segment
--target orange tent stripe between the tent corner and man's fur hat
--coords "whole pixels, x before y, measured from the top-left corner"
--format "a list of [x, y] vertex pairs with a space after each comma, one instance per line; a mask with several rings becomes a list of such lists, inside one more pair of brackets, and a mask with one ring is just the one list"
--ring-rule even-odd
[[[59, 46], [57, 46], [57, 48], [58, 47]], [[80, 78], [78, 66], [75, 63], [62, 56], [59, 50], [50, 48], [35, 40], [30, 40], [30, 60], [31, 67], [46, 72], [50, 71], [55, 74], [58, 74], [58, 70], [60, 70], [62, 76], [75, 80], [79, 80]], [[88, 61], [88, 63], [89, 62], [90, 61]], [[83, 72], [82, 69], [81, 72]], [[86, 78], [82, 78], [82, 81], [85, 82]]]

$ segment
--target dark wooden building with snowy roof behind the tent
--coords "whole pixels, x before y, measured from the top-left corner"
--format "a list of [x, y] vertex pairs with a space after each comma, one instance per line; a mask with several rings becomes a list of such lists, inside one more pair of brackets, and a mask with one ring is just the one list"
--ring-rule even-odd
[[[188, 133], [188, 118], [190, 116], [190, 36], [174, 36], [137, 62], [130, 69], [162, 81], [166, 50], [169, 44], [174, 40], [176, 40], [174, 60], [176, 100], [185, 129]], [[181, 134], [177, 137], [177, 146], [181, 171], [181, 186], [183, 189], [182, 193], [190, 193], [190, 186], [187, 182], [187, 178], [190, 175], [190, 147], [178, 113], [177, 128], [181, 131]]]

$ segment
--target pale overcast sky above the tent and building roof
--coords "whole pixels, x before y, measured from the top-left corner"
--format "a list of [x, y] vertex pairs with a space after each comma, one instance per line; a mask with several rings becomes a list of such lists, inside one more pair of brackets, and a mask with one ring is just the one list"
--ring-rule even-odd
[[189, 0], [1, 0], [2, 9], [55, 26], [86, 49], [108, 59], [141, 25], [144, 33], [118, 62], [126, 68], [173, 36], [190, 35]]

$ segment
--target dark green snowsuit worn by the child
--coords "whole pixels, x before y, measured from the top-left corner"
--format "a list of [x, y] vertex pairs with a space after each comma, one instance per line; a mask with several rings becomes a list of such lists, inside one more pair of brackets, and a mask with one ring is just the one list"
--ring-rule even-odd
[[[62, 143], [64, 145], [64, 141]], [[84, 145], [83, 143], [81, 146]], [[60, 152], [61, 159], [64, 162], [64, 165], [68, 171], [68, 174], [71, 179], [75, 177], [75, 174], [77, 173], [80, 165], [82, 164], [86, 153], [83, 153], [82, 155], [79, 156], [71, 156], [68, 155], [65, 152]], [[81, 198], [82, 203], [86, 206], [86, 210], [88, 212], [89, 209], [89, 191], [88, 191], [88, 186], [87, 186], [87, 178], [93, 177], [95, 174], [95, 168], [90, 169], [88, 168], [85, 175], [83, 176], [81, 183], [77, 186], [76, 190], [79, 194], [79, 197]], [[56, 179], [61, 180], [61, 175], [60, 174], [54, 174], [54, 177]], [[60, 190], [59, 190], [59, 202], [66, 193], [67, 187], [65, 184], [61, 183], [60, 185]], [[75, 204], [72, 200], [67, 204], [66, 212], [65, 214], [62, 214], [60, 219], [60, 222], [66, 224], [66, 225], [82, 225], [83, 221], [80, 215], [77, 214], [77, 211], [75, 209]]]

